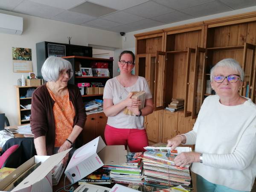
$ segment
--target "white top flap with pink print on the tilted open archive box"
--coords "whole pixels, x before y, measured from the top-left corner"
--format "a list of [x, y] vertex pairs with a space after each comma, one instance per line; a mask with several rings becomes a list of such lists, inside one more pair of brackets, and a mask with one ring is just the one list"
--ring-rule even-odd
[[67, 165], [66, 170], [72, 169], [72, 167], [76, 166], [78, 163], [87, 159], [91, 155], [96, 154], [97, 151], [102, 150], [102, 148], [104, 148], [105, 146], [106, 144], [104, 143], [102, 138], [99, 136], [94, 140], [91, 140], [89, 143], [86, 143], [85, 145], [76, 149], [76, 151], [73, 153], [70, 159], [70, 162]]

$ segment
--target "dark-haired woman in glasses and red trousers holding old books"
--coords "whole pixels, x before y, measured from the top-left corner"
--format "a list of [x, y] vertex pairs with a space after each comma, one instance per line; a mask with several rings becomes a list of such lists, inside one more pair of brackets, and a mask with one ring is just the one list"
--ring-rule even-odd
[[[148, 146], [148, 137], [144, 128], [144, 117], [153, 112], [153, 99], [148, 82], [144, 77], [131, 74], [134, 68], [134, 53], [123, 51], [119, 56], [120, 75], [106, 82], [103, 94], [103, 110], [108, 116], [105, 127], [107, 145], [125, 145], [130, 151], [144, 151]], [[133, 91], [145, 91], [145, 105], [141, 110], [141, 101], [131, 99]], [[135, 115], [123, 113], [128, 108]]]

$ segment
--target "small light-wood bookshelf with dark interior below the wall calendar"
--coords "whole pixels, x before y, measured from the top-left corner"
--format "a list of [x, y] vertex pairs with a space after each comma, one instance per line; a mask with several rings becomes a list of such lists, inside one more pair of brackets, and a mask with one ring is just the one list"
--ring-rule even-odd
[[[38, 86], [15, 86], [17, 91], [17, 111], [18, 111], [18, 124], [26, 124], [29, 123], [29, 116], [31, 115], [31, 99], [32, 97], [27, 97], [27, 90], [32, 89], [35, 90]], [[25, 109], [23, 107], [25, 107]], [[28, 117], [28, 119], [25, 118]]]

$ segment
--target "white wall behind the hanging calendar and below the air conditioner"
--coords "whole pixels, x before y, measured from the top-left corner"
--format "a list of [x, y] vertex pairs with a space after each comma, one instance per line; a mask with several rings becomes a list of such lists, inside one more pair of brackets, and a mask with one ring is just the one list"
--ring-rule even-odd
[[[6, 113], [10, 125], [17, 124], [17, 101], [14, 85], [17, 85], [17, 79], [22, 76], [22, 73], [13, 73], [12, 47], [32, 49], [34, 72], [37, 71], [35, 44], [41, 41], [68, 43], [67, 37], [71, 36], [71, 44], [122, 47], [122, 38], [119, 33], [3, 10], [0, 10], [0, 13], [23, 17], [22, 35], [0, 33], [0, 113]], [[24, 73], [24, 76], [27, 75]]]

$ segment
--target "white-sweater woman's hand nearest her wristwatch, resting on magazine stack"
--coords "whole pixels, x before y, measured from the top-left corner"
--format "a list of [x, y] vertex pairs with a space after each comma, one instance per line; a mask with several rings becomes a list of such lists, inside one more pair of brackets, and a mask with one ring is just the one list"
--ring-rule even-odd
[[200, 162], [200, 153], [196, 152], [183, 152], [177, 155], [177, 157], [174, 158], [174, 163], [176, 166], [184, 167], [187, 164], [193, 163], [193, 162]]

